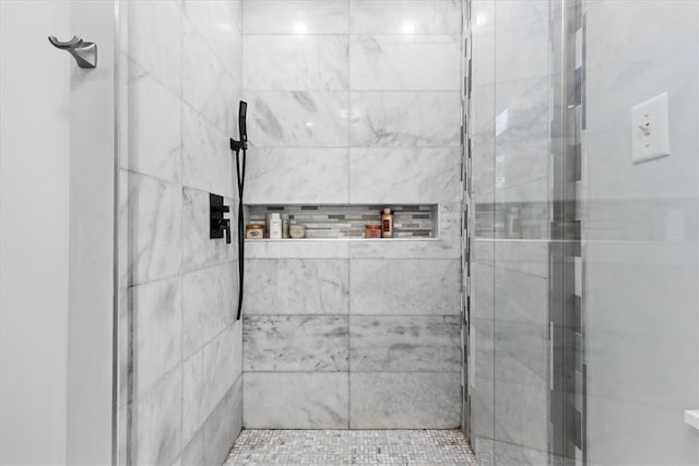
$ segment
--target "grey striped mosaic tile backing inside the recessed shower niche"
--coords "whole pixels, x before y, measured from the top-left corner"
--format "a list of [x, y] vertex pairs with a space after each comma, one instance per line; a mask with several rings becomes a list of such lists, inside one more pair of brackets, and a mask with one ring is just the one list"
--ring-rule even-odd
[[437, 205], [250, 205], [247, 223], [265, 222], [280, 212], [289, 222], [306, 226], [307, 238], [363, 238], [367, 224], [380, 225], [379, 212], [393, 212], [394, 238], [437, 237]]

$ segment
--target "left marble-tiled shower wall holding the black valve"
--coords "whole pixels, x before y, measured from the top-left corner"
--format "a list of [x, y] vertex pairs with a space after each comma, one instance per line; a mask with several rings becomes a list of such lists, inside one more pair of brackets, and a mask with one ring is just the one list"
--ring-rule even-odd
[[209, 192], [235, 205], [242, 4], [119, 13], [118, 463], [220, 465], [242, 426], [242, 323], [236, 250], [209, 239]]

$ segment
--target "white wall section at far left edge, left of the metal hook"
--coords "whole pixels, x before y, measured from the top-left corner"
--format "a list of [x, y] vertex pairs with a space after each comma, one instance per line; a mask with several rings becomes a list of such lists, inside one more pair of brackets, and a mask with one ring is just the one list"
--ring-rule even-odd
[[0, 2], [2, 464], [67, 461], [69, 7]]

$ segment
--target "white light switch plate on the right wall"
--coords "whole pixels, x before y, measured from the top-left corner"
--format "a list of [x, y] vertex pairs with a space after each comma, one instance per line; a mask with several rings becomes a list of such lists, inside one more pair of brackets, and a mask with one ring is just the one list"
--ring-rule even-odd
[[670, 155], [667, 93], [631, 107], [631, 160], [639, 164]]

